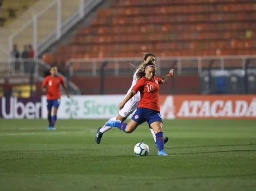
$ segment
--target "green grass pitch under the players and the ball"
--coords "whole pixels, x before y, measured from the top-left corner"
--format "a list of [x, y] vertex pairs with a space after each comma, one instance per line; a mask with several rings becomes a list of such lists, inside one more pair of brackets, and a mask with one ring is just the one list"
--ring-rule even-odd
[[[255, 120], [164, 121], [168, 157], [147, 125], [113, 129], [103, 120], [0, 120], [0, 190], [256, 190]], [[138, 142], [149, 156], [133, 156]]]

